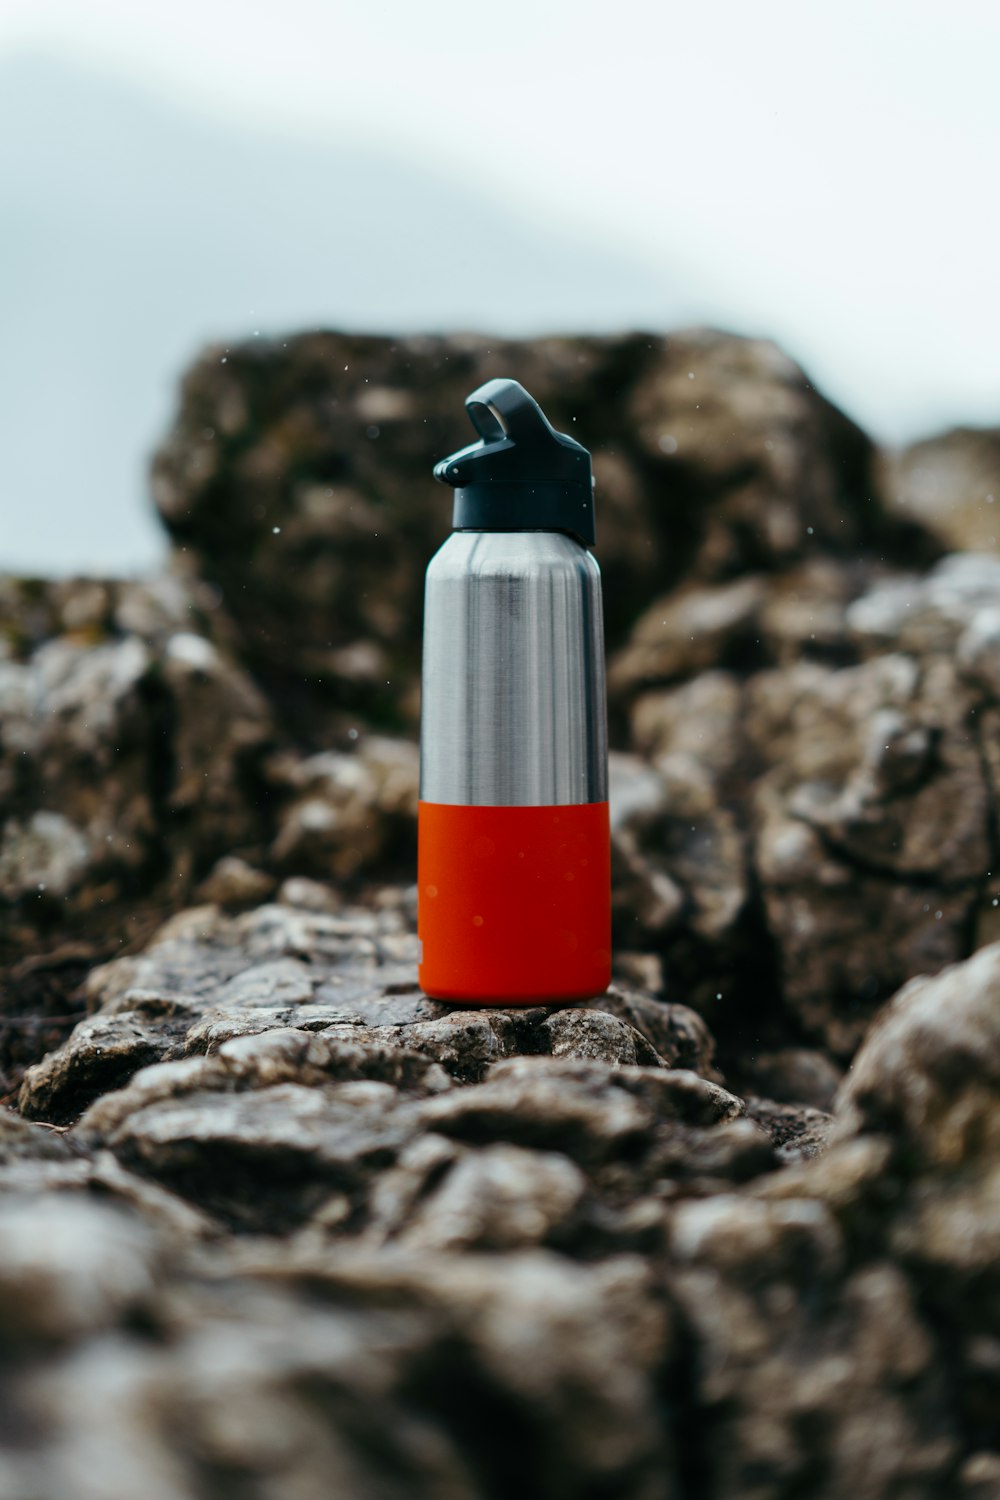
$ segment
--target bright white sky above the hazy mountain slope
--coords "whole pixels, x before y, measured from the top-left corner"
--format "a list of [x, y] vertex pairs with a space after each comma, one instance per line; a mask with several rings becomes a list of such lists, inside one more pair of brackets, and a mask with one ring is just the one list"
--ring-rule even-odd
[[625, 244], [883, 438], [1000, 422], [994, 0], [0, 0], [24, 46]]

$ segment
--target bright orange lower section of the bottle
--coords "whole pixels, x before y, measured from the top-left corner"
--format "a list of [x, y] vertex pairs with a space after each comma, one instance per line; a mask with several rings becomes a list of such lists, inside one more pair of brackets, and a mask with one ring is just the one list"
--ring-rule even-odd
[[420, 984], [439, 1000], [531, 1005], [610, 982], [607, 802], [421, 802]]

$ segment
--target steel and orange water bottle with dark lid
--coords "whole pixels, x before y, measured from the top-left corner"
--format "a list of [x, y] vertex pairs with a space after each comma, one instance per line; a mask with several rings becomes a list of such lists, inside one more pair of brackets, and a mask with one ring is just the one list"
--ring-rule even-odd
[[442, 459], [453, 536], [424, 600], [420, 982], [529, 1005], [610, 980], [601, 574], [591, 454], [513, 380]]

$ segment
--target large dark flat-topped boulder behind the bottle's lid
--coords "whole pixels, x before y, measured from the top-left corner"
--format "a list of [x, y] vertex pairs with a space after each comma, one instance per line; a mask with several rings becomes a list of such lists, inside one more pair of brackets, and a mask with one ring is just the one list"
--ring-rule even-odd
[[220, 592], [244, 662], [313, 744], [358, 714], [414, 722], [423, 568], [448, 525], [430, 470], [493, 375], [594, 450], [612, 650], [684, 578], [930, 555], [882, 508], [867, 438], [763, 340], [322, 333], [208, 350], [157, 453], [156, 502], [178, 567]]

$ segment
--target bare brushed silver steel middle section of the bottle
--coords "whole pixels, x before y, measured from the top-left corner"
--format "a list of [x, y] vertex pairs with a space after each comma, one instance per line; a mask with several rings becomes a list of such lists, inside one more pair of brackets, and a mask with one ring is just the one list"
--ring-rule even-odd
[[607, 798], [601, 573], [555, 531], [456, 531], [427, 568], [420, 795]]

